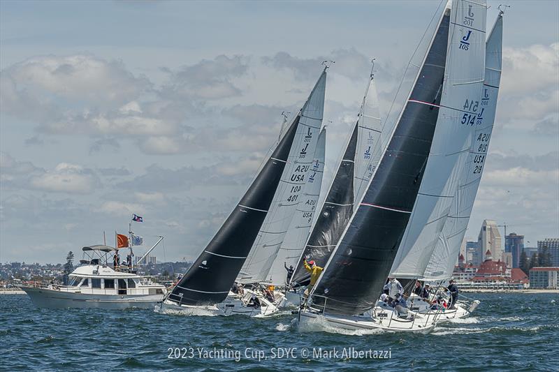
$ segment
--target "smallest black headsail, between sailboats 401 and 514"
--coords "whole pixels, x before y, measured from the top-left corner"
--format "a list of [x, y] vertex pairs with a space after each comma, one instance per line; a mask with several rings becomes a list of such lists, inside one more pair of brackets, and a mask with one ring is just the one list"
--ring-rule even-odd
[[[344, 156], [303, 251], [302, 257], [314, 260], [319, 267], [326, 265], [354, 211], [354, 158], [357, 128], [358, 122], [351, 133]], [[309, 282], [310, 274], [303, 267], [303, 260], [300, 260], [291, 278], [291, 283], [308, 285]]]

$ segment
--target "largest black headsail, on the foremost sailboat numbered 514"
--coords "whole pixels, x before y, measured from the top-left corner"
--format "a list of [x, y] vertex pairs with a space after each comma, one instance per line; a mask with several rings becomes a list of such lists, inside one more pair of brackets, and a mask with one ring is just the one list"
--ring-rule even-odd
[[421, 185], [444, 81], [450, 10], [445, 9], [393, 135], [321, 278], [312, 301], [325, 313], [375, 306]]

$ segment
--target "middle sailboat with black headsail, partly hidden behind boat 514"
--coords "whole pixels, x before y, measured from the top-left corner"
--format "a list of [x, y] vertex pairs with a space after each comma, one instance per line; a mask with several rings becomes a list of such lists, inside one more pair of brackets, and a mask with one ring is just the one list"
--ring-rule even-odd
[[303, 259], [314, 260], [319, 267], [326, 265], [354, 211], [355, 200], [365, 192], [380, 159], [382, 124], [375, 87], [374, 60], [372, 62], [358, 119], [351, 127], [317, 221], [306, 243], [302, 244], [304, 250], [297, 258], [296, 269], [286, 291], [288, 303], [294, 306], [299, 306], [300, 295], [310, 283], [310, 274], [303, 267]]

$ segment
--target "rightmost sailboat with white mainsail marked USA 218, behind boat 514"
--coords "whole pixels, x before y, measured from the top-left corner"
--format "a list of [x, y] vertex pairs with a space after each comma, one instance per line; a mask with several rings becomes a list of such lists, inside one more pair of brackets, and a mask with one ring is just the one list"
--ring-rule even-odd
[[[460, 254], [460, 246], [464, 239], [467, 224], [470, 221], [474, 200], [476, 198], [481, 174], [487, 158], [487, 151], [493, 124], [495, 122], [495, 112], [497, 110], [497, 98], [499, 94], [499, 84], [502, 68], [502, 15], [500, 10], [493, 29], [486, 41], [486, 67], [485, 82], [481, 89], [480, 105], [481, 110], [476, 118], [474, 126], [474, 138], [465, 161], [465, 168], [460, 175], [460, 181], [453, 198], [451, 211], [444, 223], [442, 235], [437, 241], [437, 246], [431, 255], [427, 268], [423, 274], [424, 281], [432, 283], [442, 283], [452, 275], [456, 258]], [[440, 320], [450, 320], [453, 318], [465, 318], [479, 305], [478, 300], [471, 303], [458, 302], [456, 308], [444, 311], [440, 315]], [[418, 311], [426, 313], [428, 304], [416, 299], [412, 304]]]

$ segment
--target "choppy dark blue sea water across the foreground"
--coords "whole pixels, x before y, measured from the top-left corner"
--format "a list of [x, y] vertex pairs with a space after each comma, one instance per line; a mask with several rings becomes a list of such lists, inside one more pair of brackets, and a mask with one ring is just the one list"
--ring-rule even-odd
[[45, 309], [3, 295], [0, 370], [558, 371], [559, 295], [467, 295], [481, 301], [472, 316], [430, 334], [299, 329], [287, 312], [254, 319]]

